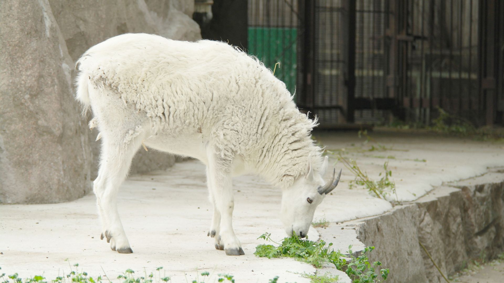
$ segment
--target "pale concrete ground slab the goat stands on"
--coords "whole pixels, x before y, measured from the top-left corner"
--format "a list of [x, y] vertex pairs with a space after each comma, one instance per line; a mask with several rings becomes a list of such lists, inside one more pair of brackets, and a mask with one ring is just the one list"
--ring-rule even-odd
[[[444, 181], [504, 166], [503, 144], [425, 133], [377, 131], [369, 135], [372, 140], [366, 143], [356, 132], [314, 133], [328, 151], [344, 149], [344, 156], [357, 160], [370, 178], [381, 178], [379, 173], [388, 161], [400, 201], [415, 200]], [[330, 156], [336, 163], [336, 157]], [[343, 251], [349, 244], [359, 249], [362, 244], [355, 230], [341, 222], [383, 214], [392, 204], [362, 188], [350, 189], [354, 176], [341, 163], [335, 166], [343, 168], [340, 185], [319, 206], [314, 218], [331, 224], [326, 229], [310, 229], [308, 237], [320, 236]], [[234, 187], [233, 226], [244, 256], [226, 256], [214, 249], [213, 239], [207, 237], [212, 211], [205, 169], [198, 161], [186, 161], [166, 171], [130, 176], [122, 184], [119, 214], [133, 254], [112, 252], [100, 240], [94, 195], [59, 204], [0, 206], [0, 273], [18, 272], [21, 277], [43, 273], [51, 279], [67, 274], [70, 264], [79, 263], [89, 274], [106, 273], [110, 279], [128, 268], [144, 274], [144, 270], [150, 273], [163, 266], [173, 282], [190, 282], [203, 271], [213, 274], [207, 282], [216, 281], [222, 273], [234, 275], [237, 283], [268, 282], [274, 276], [280, 276], [279, 282], [308, 282], [302, 274], [312, 274], [314, 267], [292, 259], [254, 255], [255, 247], [265, 243], [257, 239], [261, 234], [272, 233], [276, 240], [285, 236], [278, 218], [281, 192], [254, 176], [236, 178]], [[395, 195], [390, 197], [396, 199]], [[345, 276], [340, 276], [342, 282], [348, 281]]]

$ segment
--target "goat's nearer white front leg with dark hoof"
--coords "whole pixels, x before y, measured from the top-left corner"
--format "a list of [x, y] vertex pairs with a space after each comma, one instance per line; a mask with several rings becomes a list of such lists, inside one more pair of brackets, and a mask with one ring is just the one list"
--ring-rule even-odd
[[[216, 231], [215, 247], [224, 248], [227, 255], [244, 254], [240, 241], [233, 230], [234, 199], [231, 182], [231, 161], [219, 158], [209, 147], [207, 179], [211, 197], [214, 199], [214, 219], [212, 224], [218, 223], [220, 214], [219, 230]], [[217, 213], [217, 214], [216, 214]]]

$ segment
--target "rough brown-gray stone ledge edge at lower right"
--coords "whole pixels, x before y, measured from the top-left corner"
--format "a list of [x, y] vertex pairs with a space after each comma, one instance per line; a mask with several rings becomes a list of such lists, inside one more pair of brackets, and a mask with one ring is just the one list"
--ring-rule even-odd
[[435, 187], [415, 202], [343, 227], [357, 226], [357, 238], [376, 247], [369, 259], [390, 269], [389, 282], [444, 282], [419, 241], [446, 276], [471, 259], [492, 258], [504, 249], [503, 203], [504, 174], [490, 170]]

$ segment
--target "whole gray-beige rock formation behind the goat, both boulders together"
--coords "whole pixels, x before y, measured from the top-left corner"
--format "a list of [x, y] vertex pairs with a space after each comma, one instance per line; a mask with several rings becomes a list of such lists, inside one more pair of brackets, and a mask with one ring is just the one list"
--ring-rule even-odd
[[[127, 32], [201, 39], [194, 0], [0, 2], [0, 203], [50, 203], [87, 194], [99, 142], [74, 99], [75, 60]], [[173, 156], [139, 151], [131, 172]]]

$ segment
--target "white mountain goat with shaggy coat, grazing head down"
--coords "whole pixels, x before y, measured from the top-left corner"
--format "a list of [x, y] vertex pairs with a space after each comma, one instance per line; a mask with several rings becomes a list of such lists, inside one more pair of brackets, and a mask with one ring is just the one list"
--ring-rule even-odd
[[[232, 226], [231, 177], [263, 176], [282, 189], [288, 235], [306, 236], [315, 208], [339, 181], [322, 179], [327, 157], [285, 84], [256, 58], [216, 41], [123, 34], [77, 61], [77, 99], [91, 107], [102, 139], [94, 181], [102, 236], [132, 253], [117, 213], [119, 185], [145, 145], [201, 160], [214, 206], [209, 236], [227, 255], [243, 250]], [[341, 171], [340, 171], [341, 175]]]

